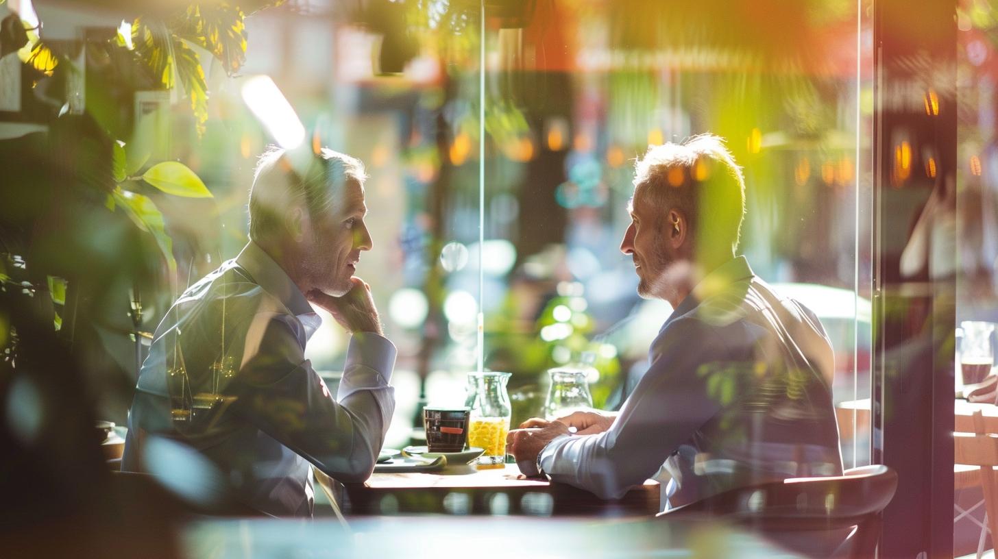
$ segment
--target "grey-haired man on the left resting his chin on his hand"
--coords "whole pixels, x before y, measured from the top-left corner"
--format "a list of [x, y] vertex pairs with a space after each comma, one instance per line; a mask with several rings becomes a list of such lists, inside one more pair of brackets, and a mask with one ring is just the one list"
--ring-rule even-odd
[[[395, 405], [395, 347], [354, 276], [372, 245], [365, 179], [359, 161], [327, 149], [260, 157], [250, 242], [157, 328], [123, 470], [166, 475], [201, 498], [234, 494], [275, 516], [311, 515], [312, 466], [343, 481], [370, 475]], [[336, 398], [304, 357], [321, 323], [308, 301], [352, 333]], [[164, 472], [178, 456], [187, 463]]]

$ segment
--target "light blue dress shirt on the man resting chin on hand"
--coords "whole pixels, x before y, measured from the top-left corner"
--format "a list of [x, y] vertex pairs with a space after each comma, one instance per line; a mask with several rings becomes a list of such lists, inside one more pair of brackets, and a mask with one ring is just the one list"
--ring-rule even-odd
[[311, 515], [311, 465], [342, 481], [366, 479], [394, 411], [395, 347], [355, 333], [334, 399], [304, 357], [320, 323], [250, 242], [189, 287], [157, 328], [122, 469], [152, 469], [145, 440], [169, 437], [208, 457], [247, 505], [277, 516]]

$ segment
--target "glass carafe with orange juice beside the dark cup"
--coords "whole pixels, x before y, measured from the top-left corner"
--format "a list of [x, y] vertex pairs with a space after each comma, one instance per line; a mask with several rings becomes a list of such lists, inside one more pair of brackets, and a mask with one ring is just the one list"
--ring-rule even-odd
[[508, 372], [469, 372], [475, 380], [475, 403], [471, 406], [468, 446], [485, 449], [479, 464], [502, 464], [506, 461], [506, 434], [512, 407], [506, 382]]

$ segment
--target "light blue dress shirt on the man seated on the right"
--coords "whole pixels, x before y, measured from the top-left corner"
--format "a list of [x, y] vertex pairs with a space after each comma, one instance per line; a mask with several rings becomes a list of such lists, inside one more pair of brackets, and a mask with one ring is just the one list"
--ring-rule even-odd
[[538, 457], [555, 481], [618, 498], [664, 467], [663, 508], [787, 477], [839, 475], [821, 323], [739, 257], [669, 316], [651, 366], [606, 432], [563, 435]]

